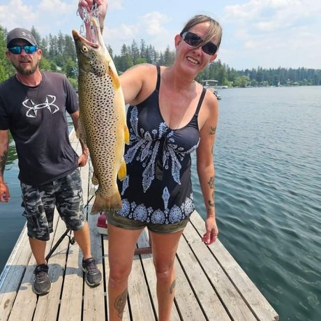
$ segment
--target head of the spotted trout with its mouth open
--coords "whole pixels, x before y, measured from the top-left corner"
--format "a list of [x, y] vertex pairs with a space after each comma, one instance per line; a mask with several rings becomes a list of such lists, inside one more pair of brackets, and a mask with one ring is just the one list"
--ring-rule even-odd
[[96, 42], [91, 42], [80, 35], [78, 31], [73, 30], [73, 40], [78, 59], [79, 73], [94, 73], [97, 76], [103, 76], [107, 73], [112, 58], [105, 46], [103, 36], [100, 32], [96, 19], [91, 19], [96, 34]]

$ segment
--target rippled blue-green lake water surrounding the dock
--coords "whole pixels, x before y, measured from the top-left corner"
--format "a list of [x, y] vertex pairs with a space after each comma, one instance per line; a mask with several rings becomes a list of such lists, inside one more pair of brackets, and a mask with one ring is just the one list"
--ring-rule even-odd
[[[222, 89], [219, 94], [219, 238], [281, 321], [319, 321], [321, 87]], [[0, 204], [0, 269], [24, 225], [16, 160], [10, 159], [5, 179], [11, 200]], [[197, 211], [204, 216], [195, 167], [193, 184]]]

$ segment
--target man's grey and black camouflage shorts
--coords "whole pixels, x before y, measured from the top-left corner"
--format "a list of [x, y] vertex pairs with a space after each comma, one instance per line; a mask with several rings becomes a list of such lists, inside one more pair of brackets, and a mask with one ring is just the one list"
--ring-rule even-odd
[[55, 207], [70, 230], [77, 231], [84, 226], [82, 184], [78, 169], [66, 177], [40, 186], [21, 183], [21, 189], [22, 215], [27, 218], [28, 236], [32, 239], [50, 239]]

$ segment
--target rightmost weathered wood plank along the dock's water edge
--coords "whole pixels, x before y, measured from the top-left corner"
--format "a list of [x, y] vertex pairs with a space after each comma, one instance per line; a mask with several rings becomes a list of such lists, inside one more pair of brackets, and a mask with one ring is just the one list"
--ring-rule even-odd
[[[204, 221], [200, 215], [192, 215], [191, 223], [197, 230], [204, 228]], [[278, 320], [278, 314], [265, 299], [254, 283], [237, 264], [232, 255], [218, 240], [209, 246], [209, 249], [220, 262], [227, 276], [232, 280], [237, 290], [244, 297], [246, 304], [251, 308], [258, 320]]]

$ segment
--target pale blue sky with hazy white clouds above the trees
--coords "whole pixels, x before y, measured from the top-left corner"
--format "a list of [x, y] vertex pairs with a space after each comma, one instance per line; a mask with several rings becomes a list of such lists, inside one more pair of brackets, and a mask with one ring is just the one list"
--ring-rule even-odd
[[[35, 27], [40, 36], [81, 30], [78, 0], [0, 0], [0, 24]], [[218, 58], [246, 68], [321, 69], [320, 0], [109, 0], [103, 36], [114, 54], [141, 39], [174, 50], [174, 36], [196, 14], [223, 27]]]

